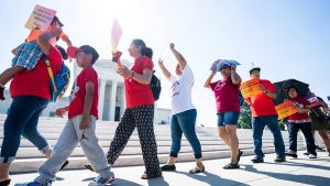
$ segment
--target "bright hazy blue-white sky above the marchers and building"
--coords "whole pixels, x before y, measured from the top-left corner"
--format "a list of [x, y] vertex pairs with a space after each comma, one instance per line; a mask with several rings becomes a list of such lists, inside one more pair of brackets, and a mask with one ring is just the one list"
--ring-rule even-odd
[[[170, 84], [157, 59], [175, 73], [170, 42], [195, 73], [193, 102], [197, 124], [216, 125], [216, 100], [202, 87], [211, 64], [235, 59], [238, 73], [249, 80], [249, 69], [262, 68], [273, 83], [295, 78], [311, 91], [330, 96], [330, 1], [328, 0], [11, 0], [1, 1], [0, 70], [10, 67], [10, 51], [29, 34], [24, 28], [35, 4], [56, 10], [63, 30], [80, 46], [89, 44], [100, 58], [111, 58], [111, 26], [116, 17], [123, 30], [119, 50], [132, 62], [128, 48], [142, 39], [154, 51], [156, 75], [162, 79], [160, 108], [170, 108]], [[59, 43], [65, 46], [64, 43]], [[72, 64], [69, 64], [72, 65]], [[217, 75], [215, 80], [220, 79]]]

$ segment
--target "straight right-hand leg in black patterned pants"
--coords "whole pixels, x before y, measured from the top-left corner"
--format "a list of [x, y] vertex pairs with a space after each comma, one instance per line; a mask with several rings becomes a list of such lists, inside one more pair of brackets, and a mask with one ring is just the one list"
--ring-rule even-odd
[[142, 156], [145, 164], [143, 179], [162, 175], [157, 157], [157, 144], [154, 133], [154, 106], [141, 106], [132, 109], [140, 138]]

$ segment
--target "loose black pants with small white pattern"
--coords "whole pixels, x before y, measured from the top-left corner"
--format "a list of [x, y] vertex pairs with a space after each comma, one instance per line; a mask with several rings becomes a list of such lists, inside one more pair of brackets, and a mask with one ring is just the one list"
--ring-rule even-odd
[[157, 144], [154, 133], [154, 106], [139, 106], [127, 109], [116, 130], [107, 154], [108, 163], [113, 165], [129, 142], [135, 127], [140, 138], [145, 173], [161, 175]]

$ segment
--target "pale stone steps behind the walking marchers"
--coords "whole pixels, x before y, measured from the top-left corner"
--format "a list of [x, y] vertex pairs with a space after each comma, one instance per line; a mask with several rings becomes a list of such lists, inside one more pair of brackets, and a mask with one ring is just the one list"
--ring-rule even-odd
[[[3, 122], [6, 116], [0, 116], [0, 147], [3, 140]], [[62, 118], [40, 118], [38, 129], [40, 132], [47, 139], [51, 145], [55, 145], [59, 136], [66, 119]], [[117, 122], [97, 121], [97, 135], [99, 143], [103, 146], [105, 153], [108, 151], [110, 142], [114, 135]], [[169, 125], [156, 124], [155, 128], [156, 141], [158, 146], [158, 157], [161, 163], [165, 163], [170, 150], [170, 128]], [[196, 129], [198, 139], [201, 143], [202, 156], [205, 160], [229, 157], [229, 147], [218, 136], [217, 128], [201, 128]], [[253, 154], [253, 140], [252, 130], [240, 129], [238, 130], [240, 140], [240, 149], [243, 150], [243, 155]], [[283, 131], [286, 147], [288, 145], [288, 133]], [[298, 149], [305, 149], [302, 139], [298, 136]], [[273, 153], [273, 135], [271, 131], [265, 130], [263, 135], [263, 151], [264, 153]], [[38, 152], [38, 150], [30, 143], [26, 139], [22, 138], [20, 149], [16, 154], [16, 160], [13, 162], [11, 173], [35, 172], [37, 167], [46, 158]], [[84, 168], [88, 163], [84, 152], [78, 144], [70, 157], [69, 164], [66, 169]], [[195, 161], [193, 149], [188, 141], [183, 136], [182, 150], [178, 162]], [[136, 130], [133, 132], [127, 147], [121, 156], [116, 162], [114, 166], [131, 166], [143, 165], [142, 152], [140, 147], [139, 136]]]

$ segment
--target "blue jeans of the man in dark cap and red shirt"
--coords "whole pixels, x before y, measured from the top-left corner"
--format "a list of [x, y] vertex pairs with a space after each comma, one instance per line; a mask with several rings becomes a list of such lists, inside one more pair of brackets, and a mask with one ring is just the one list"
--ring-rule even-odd
[[253, 141], [254, 141], [254, 154], [257, 157], [264, 157], [262, 151], [263, 145], [263, 130], [267, 125], [274, 136], [275, 153], [279, 157], [285, 157], [285, 146], [282, 138], [282, 133], [278, 127], [277, 114], [266, 117], [252, 117], [253, 128]]

